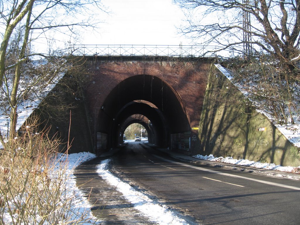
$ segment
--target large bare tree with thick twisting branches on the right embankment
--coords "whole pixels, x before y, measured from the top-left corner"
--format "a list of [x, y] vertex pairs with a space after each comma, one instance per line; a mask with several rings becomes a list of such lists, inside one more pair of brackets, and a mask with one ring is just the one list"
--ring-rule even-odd
[[[246, 55], [247, 58], [249, 53], [253, 53], [257, 58], [255, 68], [248, 65], [247, 70], [242, 71], [245, 65], [240, 64], [241, 67], [236, 71], [260, 75], [257, 90], [264, 90], [263, 96], [270, 95], [269, 100], [276, 101], [278, 95], [284, 93], [280, 95], [283, 103], [280, 107], [288, 108], [290, 122], [294, 123], [291, 108], [295, 103], [291, 87], [295, 81], [300, 80], [297, 65], [300, 60], [300, 1], [174, 0], [174, 2], [187, 10], [187, 24], [181, 31], [195, 42], [202, 45], [216, 45], [216, 51], [233, 50]], [[262, 61], [266, 58], [267, 61]], [[246, 60], [245, 64], [247, 63], [254, 61]], [[266, 71], [270, 74], [266, 74]], [[268, 79], [270, 76], [273, 78]], [[262, 80], [266, 80], [267, 83], [261, 82]], [[268, 90], [266, 87], [271, 89]], [[258, 92], [255, 93], [258, 96]], [[270, 107], [273, 107], [271, 105], [270, 103]], [[272, 113], [276, 115], [278, 112]], [[286, 122], [284, 117], [282, 120]]]

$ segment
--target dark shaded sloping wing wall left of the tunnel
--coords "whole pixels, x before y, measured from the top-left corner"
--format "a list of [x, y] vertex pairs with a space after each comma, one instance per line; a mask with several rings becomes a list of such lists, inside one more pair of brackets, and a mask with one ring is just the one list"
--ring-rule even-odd
[[67, 146], [68, 153], [94, 152], [81, 87], [74, 77], [64, 76], [33, 116], [39, 118], [39, 130], [60, 140], [60, 152], [66, 152]]

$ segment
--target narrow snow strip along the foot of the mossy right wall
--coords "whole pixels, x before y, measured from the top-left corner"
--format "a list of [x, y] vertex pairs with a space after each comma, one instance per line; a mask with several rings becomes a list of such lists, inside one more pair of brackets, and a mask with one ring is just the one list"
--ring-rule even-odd
[[247, 167], [253, 167], [253, 168], [259, 168], [259, 169], [265, 169], [265, 170], [277, 170], [282, 172], [288, 172], [288, 173], [300, 173], [300, 166], [298, 167], [283, 167], [280, 165], [275, 165], [274, 163], [261, 163], [260, 161], [249, 161], [247, 159], [233, 159], [232, 157], [214, 157], [212, 154], [210, 155], [194, 155], [193, 158], [197, 159], [203, 159], [207, 161], [212, 162], [220, 162], [220, 163], [226, 163], [226, 164], [234, 164], [234, 165], [240, 165], [240, 166], [247, 166]]

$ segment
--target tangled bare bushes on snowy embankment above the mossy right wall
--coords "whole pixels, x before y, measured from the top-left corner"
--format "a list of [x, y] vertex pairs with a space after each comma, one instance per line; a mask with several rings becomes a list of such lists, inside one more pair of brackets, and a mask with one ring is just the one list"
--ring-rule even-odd
[[[293, 123], [293, 117], [299, 117], [299, 85], [296, 80], [290, 80], [289, 87], [278, 75], [279, 62], [269, 55], [259, 58], [233, 57], [222, 61], [233, 73], [233, 82], [251, 100], [247, 105], [253, 105], [259, 111], [268, 113], [280, 125]], [[221, 100], [219, 100], [221, 101]]]

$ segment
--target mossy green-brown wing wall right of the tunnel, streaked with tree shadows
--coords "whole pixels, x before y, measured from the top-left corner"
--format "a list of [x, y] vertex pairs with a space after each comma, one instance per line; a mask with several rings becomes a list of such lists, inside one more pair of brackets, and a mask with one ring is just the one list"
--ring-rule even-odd
[[199, 123], [197, 154], [299, 166], [298, 149], [213, 68]]

